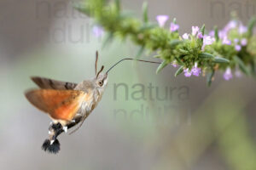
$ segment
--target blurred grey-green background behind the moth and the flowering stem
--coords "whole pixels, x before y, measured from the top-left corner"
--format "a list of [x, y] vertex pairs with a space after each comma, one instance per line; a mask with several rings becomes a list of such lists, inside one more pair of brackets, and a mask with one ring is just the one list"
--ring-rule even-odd
[[[176, 68], [125, 61], [108, 77], [101, 103], [73, 135], [60, 136], [61, 151], [41, 150], [49, 117], [24, 97], [31, 76], [81, 82], [100, 65], [133, 57], [138, 48], [93, 34], [93, 20], [67, 0], [0, 1], [0, 169], [255, 170], [256, 99], [253, 77], [224, 81], [174, 77]], [[141, 16], [143, 0], [123, 0]], [[223, 27], [235, 10], [256, 14], [253, 0], [148, 0], [150, 20], [176, 17], [181, 34], [191, 26]], [[152, 55], [143, 54], [142, 59]]]

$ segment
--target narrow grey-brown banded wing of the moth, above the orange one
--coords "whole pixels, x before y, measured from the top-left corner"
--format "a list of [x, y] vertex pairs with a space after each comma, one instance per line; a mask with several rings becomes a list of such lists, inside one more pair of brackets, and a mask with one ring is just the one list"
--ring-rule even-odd
[[59, 89], [59, 90], [73, 90], [78, 84], [73, 82], [61, 82], [44, 77], [31, 77], [39, 88], [43, 89]]

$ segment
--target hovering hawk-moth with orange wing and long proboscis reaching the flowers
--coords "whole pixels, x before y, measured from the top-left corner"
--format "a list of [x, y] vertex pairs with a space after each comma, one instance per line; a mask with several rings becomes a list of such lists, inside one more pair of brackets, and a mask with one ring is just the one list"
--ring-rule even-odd
[[[39, 89], [28, 90], [26, 99], [44, 111], [52, 119], [49, 125], [49, 138], [45, 139], [42, 149], [49, 153], [58, 153], [60, 142], [57, 137], [71, 127], [78, 126], [73, 132], [82, 126], [84, 120], [94, 110], [102, 99], [104, 89], [108, 84], [108, 72], [115, 65], [130, 58], [119, 60], [116, 64], [102, 73], [104, 66], [97, 71], [98, 53], [96, 52], [95, 73], [96, 77], [91, 80], [84, 80], [80, 83], [61, 82], [44, 77], [32, 77]], [[142, 59], [130, 59], [148, 63], [159, 62], [147, 61]], [[73, 133], [72, 132], [72, 133]]]

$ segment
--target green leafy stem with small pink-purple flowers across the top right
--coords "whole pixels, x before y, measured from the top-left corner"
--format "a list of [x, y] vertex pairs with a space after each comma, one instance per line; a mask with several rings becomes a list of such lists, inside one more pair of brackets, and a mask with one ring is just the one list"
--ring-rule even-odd
[[[207, 75], [207, 82], [211, 84], [214, 73], [224, 72], [224, 79], [230, 80], [233, 74], [241, 77], [255, 75], [256, 43], [253, 43], [253, 27], [256, 23], [252, 19], [247, 26], [240, 20], [231, 20], [223, 29], [216, 27], [206, 31], [205, 26], [192, 26], [190, 33], [179, 34], [180, 26], [176, 19], [166, 29], [167, 15], [156, 16], [158, 26], [148, 21], [148, 8], [143, 4], [143, 20], [138, 20], [129, 14], [122, 13], [119, 0], [115, 3], [104, 3], [103, 0], [85, 0], [79, 11], [88, 14], [96, 21], [94, 29], [96, 36], [102, 35], [102, 29], [113, 37], [130, 37], [131, 41], [140, 46], [138, 55], [143, 50], [157, 52], [156, 58], [162, 59], [157, 72], [166, 65], [179, 67], [175, 76], [183, 73], [185, 77], [199, 77], [201, 72]], [[206, 73], [206, 74], [205, 74]]]

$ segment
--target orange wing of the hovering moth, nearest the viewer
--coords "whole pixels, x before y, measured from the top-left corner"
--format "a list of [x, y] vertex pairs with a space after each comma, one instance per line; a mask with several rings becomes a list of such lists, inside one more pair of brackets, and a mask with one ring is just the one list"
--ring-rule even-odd
[[36, 89], [26, 92], [26, 99], [56, 120], [71, 121], [88, 94], [79, 90]]

